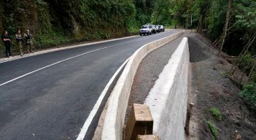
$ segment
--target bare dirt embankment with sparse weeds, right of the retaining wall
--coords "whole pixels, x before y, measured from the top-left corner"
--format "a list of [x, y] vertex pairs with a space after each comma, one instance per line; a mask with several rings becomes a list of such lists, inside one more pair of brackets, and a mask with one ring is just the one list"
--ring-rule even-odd
[[217, 50], [200, 34], [187, 37], [190, 49], [188, 99], [195, 104], [187, 139], [234, 139], [235, 131], [241, 139], [256, 139], [256, 113], [238, 97], [240, 90], [227, 75], [231, 64], [218, 57]]

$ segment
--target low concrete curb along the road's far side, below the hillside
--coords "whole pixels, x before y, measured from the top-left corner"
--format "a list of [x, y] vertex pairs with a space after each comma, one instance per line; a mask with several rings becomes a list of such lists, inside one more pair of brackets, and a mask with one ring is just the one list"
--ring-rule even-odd
[[15, 61], [15, 60], [21, 59], [21, 58], [28, 58], [28, 57], [31, 57], [31, 56], [34, 56], [34, 55], [42, 55], [44, 53], [58, 52], [58, 51], [61, 51], [61, 50], [69, 50], [69, 49], [76, 48], [76, 47], [85, 47], [85, 46], [89, 46], [89, 45], [92, 45], [92, 44], [101, 44], [101, 43], [113, 42], [113, 41], [117, 41], [117, 40], [121, 40], [121, 39], [130, 39], [132, 37], [135, 37], [135, 36], [128, 36], [128, 37], [123, 37], [123, 38], [119, 38], [119, 39], [109, 39], [109, 40], [104, 40], [104, 41], [100, 41], [100, 42], [76, 44], [76, 45], [71, 45], [71, 46], [66, 46], [66, 47], [58, 47], [58, 48], [42, 50], [42, 51], [30, 53], [30, 54], [25, 54], [23, 56], [15, 55], [15, 56], [9, 57], [9, 58], [0, 58], [0, 63], [4, 63], [4, 62], [8, 62], [8, 61]]

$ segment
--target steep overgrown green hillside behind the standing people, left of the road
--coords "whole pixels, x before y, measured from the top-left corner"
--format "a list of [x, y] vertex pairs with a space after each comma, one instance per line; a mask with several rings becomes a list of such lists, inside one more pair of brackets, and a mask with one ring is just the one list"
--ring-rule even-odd
[[[29, 29], [34, 47], [138, 34], [151, 22], [151, 0], [9, 0], [0, 1], [0, 30], [14, 39], [17, 28]], [[12, 51], [18, 51], [13, 42]], [[0, 47], [4, 52], [4, 47]]]

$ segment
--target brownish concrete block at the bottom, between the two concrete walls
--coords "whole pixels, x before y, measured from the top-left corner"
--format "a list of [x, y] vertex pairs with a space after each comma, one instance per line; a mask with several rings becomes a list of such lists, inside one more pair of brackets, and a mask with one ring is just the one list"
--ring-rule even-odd
[[152, 134], [153, 119], [149, 106], [133, 104], [128, 124], [125, 128], [125, 139], [135, 140], [138, 135]]

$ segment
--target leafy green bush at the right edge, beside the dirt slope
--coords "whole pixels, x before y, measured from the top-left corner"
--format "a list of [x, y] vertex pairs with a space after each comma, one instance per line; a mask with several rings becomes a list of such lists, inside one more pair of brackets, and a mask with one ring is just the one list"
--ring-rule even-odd
[[256, 109], [256, 83], [244, 85], [239, 96], [244, 98], [244, 100], [247, 101], [252, 108]]

